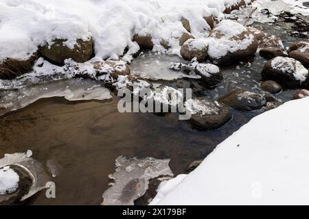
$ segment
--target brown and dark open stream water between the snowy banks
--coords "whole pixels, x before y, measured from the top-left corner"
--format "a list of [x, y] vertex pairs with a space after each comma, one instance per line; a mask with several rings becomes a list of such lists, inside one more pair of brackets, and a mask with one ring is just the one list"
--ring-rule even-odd
[[[287, 36], [284, 28], [260, 25], [260, 29], [281, 36], [285, 46], [296, 42], [297, 38]], [[142, 59], [138, 58], [140, 64]], [[160, 59], [164, 65], [164, 57]], [[225, 81], [215, 90], [202, 90], [199, 94], [217, 99], [235, 88], [263, 92], [259, 86], [264, 62], [256, 55], [255, 60], [222, 68]], [[148, 69], [151, 68], [150, 64]], [[185, 80], [194, 83], [192, 79]], [[155, 82], [173, 86], [177, 80]], [[295, 92], [284, 90], [276, 97], [288, 101]], [[44, 164], [55, 159], [62, 168], [60, 176], [54, 179], [56, 198], [47, 199], [45, 192], [39, 192], [29, 204], [100, 204], [102, 193], [108, 188], [107, 176], [115, 171], [115, 158], [119, 155], [169, 158], [172, 171], [178, 175], [185, 172], [188, 164], [204, 159], [220, 142], [260, 114], [259, 111], [233, 110], [233, 119], [221, 129], [196, 131], [187, 122], [179, 121], [177, 114], [120, 114], [118, 100], [117, 96], [108, 101], [40, 99], [0, 118], [1, 157], [5, 153], [31, 149], [39, 162]]]

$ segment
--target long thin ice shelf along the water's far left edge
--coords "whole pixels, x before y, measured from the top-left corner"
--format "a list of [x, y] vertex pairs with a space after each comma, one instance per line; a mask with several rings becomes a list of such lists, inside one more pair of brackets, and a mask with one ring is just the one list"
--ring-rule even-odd
[[64, 97], [68, 101], [87, 101], [111, 99], [108, 88], [101, 81], [90, 79], [64, 79], [38, 83], [32, 86], [1, 90], [0, 115], [21, 109], [38, 99], [54, 96]]

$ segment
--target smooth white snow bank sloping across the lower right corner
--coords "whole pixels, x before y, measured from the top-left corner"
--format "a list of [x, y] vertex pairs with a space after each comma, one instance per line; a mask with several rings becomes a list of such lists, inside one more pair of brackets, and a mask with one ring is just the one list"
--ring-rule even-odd
[[299, 99], [253, 118], [152, 204], [308, 205], [308, 107]]

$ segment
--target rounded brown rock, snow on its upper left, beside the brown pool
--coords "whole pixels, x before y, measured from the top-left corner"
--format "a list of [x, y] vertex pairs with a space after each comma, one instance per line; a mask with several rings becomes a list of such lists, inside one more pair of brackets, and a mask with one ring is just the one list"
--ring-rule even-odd
[[201, 131], [219, 129], [232, 118], [229, 107], [203, 97], [185, 101], [185, 109], [192, 114], [188, 122]]

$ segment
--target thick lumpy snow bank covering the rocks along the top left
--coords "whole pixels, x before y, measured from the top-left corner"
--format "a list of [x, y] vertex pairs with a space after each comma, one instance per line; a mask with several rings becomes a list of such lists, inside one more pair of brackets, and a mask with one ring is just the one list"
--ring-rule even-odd
[[194, 36], [205, 36], [209, 26], [203, 16], [223, 17], [225, 7], [239, 1], [1, 0], [0, 59], [25, 59], [56, 38], [73, 47], [78, 38], [89, 37], [98, 57], [117, 57], [127, 45], [136, 50], [134, 34], [151, 34], [155, 45], [161, 38], [180, 37], [185, 32], [181, 17], [190, 21]]

